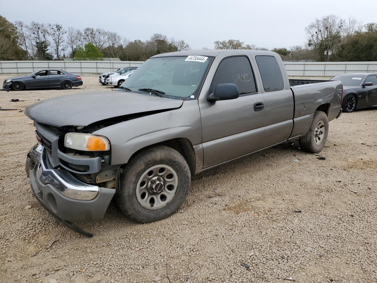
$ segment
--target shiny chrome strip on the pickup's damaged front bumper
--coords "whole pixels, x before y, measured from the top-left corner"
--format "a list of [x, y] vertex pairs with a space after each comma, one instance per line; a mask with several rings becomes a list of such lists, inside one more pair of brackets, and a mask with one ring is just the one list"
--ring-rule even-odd
[[74, 178], [65, 170], [49, 169], [46, 154], [43, 147], [38, 145], [35, 151], [39, 152], [39, 164], [37, 165], [37, 178], [44, 184], [50, 184], [62, 195], [74, 200], [92, 200], [100, 191], [98, 186], [88, 185]]

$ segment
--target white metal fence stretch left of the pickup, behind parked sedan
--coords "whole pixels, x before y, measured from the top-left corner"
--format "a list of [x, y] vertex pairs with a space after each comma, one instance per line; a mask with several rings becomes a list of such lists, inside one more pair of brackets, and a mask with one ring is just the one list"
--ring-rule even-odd
[[72, 74], [101, 74], [121, 67], [138, 67], [139, 61], [0, 61], [0, 74], [29, 74], [40, 69], [63, 69]]

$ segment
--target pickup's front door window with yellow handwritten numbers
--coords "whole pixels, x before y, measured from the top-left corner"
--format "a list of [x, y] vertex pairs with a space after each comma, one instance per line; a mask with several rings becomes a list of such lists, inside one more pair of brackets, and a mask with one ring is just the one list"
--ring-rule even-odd
[[245, 56], [238, 56], [222, 60], [213, 78], [213, 87], [216, 88], [220, 83], [234, 83], [238, 86], [240, 94], [256, 92], [249, 59]]

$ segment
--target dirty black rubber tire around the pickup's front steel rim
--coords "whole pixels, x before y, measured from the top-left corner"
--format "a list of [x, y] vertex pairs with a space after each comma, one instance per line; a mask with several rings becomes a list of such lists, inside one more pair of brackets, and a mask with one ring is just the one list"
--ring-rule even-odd
[[[178, 183], [173, 198], [165, 206], [147, 209], [139, 202], [140, 196], [136, 196], [136, 191], [140, 191], [138, 186], [139, 184], [141, 186], [141, 178], [153, 166], [172, 168], [176, 173]], [[177, 211], [189, 194], [190, 183], [190, 168], [184, 157], [175, 149], [155, 146], [139, 152], [126, 165], [120, 176], [120, 192], [116, 192], [115, 200], [120, 210], [131, 220], [140, 223], [153, 222], [169, 217]], [[164, 194], [164, 190], [168, 188], [164, 187], [157, 196]], [[151, 197], [153, 194], [148, 193], [148, 196]]]

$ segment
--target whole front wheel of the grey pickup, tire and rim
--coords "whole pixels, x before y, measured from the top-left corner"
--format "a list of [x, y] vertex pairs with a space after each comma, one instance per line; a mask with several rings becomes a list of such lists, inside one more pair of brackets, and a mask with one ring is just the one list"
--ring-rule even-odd
[[131, 220], [153, 222], [177, 211], [189, 194], [190, 183], [190, 168], [184, 157], [175, 149], [156, 146], [129, 161], [115, 199]]

